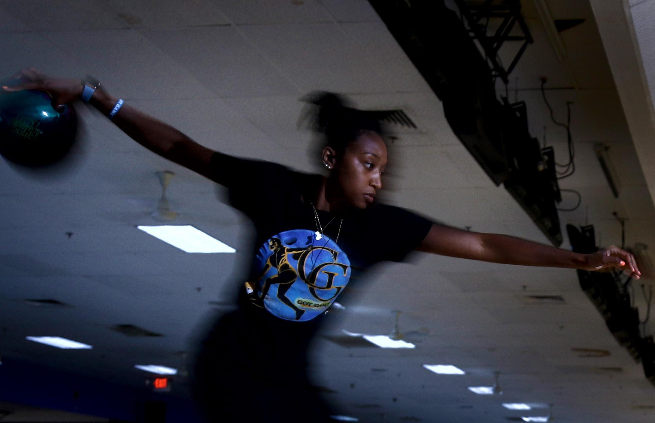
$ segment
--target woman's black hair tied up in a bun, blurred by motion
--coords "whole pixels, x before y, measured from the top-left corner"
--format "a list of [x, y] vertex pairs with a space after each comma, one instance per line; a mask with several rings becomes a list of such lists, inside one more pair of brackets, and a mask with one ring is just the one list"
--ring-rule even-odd
[[375, 132], [383, 139], [386, 136], [373, 113], [351, 108], [343, 96], [314, 91], [302, 100], [310, 104], [310, 109], [301, 119], [308, 120], [310, 129], [324, 136], [324, 146], [333, 148], [337, 153], [342, 153], [362, 132]]

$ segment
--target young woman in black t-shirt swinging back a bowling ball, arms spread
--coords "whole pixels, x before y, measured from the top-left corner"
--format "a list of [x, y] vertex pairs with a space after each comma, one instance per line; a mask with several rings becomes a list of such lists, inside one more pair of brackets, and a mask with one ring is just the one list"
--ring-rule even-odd
[[238, 308], [217, 319], [196, 363], [196, 397], [215, 422], [329, 421], [305, 373], [307, 348], [348, 281], [377, 262], [417, 250], [523, 266], [615, 267], [639, 278], [633, 256], [614, 246], [577, 254], [450, 228], [378, 203], [387, 162], [383, 132], [333, 94], [312, 100], [326, 139], [324, 177], [210, 150], [88, 83], [33, 69], [18, 76], [29, 82], [3, 89], [44, 90], [54, 104], [83, 96], [145, 148], [226, 186], [233, 207], [252, 219], [255, 251], [249, 277], [234, 287]]

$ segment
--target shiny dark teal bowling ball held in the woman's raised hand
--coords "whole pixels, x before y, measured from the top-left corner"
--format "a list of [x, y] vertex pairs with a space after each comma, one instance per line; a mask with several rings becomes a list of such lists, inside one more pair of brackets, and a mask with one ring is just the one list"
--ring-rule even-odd
[[[24, 79], [3, 81], [12, 87]], [[77, 136], [77, 114], [70, 105], [52, 105], [40, 90], [0, 89], [0, 155], [25, 167], [48, 167], [69, 153]]]

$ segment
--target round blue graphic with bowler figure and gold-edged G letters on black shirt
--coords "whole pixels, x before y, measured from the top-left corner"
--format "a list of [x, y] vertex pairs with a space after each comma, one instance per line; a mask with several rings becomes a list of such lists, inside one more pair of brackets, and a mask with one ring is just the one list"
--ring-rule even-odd
[[[318, 238], [318, 239], [317, 239]], [[255, 294], [273, 315], [308, 321], [324, 312], [350, 279], [350, 260], [326, 235], [280, 232], [255, 256]]]

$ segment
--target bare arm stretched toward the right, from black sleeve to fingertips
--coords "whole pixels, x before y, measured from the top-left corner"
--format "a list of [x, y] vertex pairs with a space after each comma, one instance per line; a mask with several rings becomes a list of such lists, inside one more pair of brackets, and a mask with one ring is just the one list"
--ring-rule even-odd
[[639, 279], [639, 269], [632, 254], [614, 245], [592, 254], [525, 241], [498, 233], [479, 233], [433, 224], [418, 251], [443, 256], [470, 258], [485, 262], [544, 266], [582, 270], [620, 268]]

